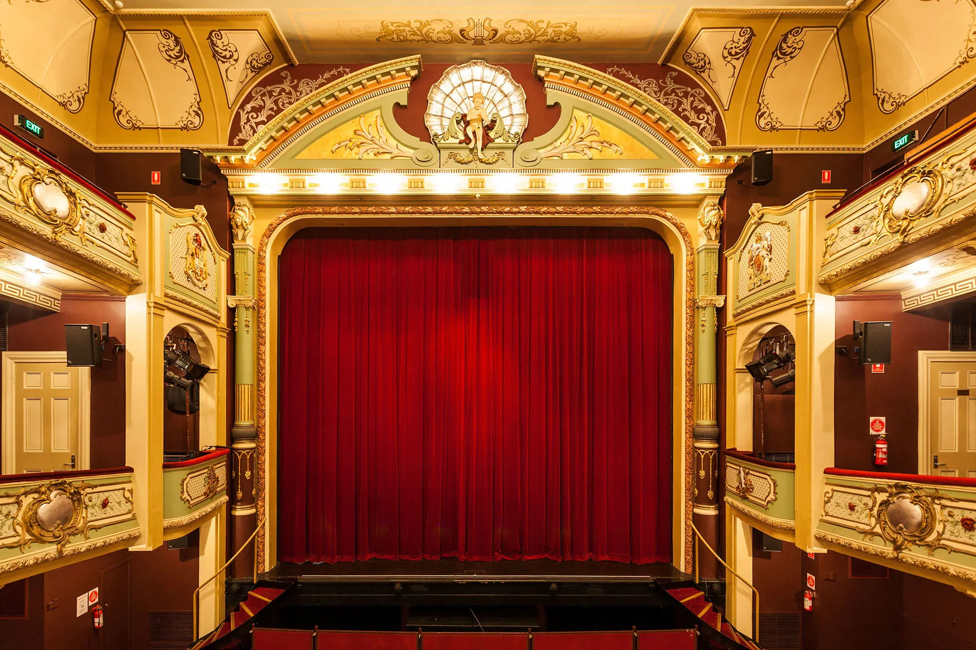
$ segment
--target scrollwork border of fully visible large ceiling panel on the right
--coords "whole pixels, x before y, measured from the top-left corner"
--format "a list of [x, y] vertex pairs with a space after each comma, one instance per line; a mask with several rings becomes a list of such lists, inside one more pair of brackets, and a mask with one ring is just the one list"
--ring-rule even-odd
[[[834, 105], [834, 108], [828, 112], [827, 115], [822, 116], [817, 120], [812, 126], [804, 126], [802, 120], [796, 126], [785, 125], [779, 121], [779, 119], [773, 115], [772, 107], [766, 101], [765, 91], [766, 84], [770, 79], [773, 78], [777, 69], [785, 70], [790, 61], [793, 61], [799, 56], [800, 52], [804, 49], [804, 41], [806, 33], [811, 30], [827, 30], [833, 32], [833, 36], [830, 37], [828, 43], [825, 47], [823, 53], [819, 60], [817, 61], [817, 67], [814, 68], [813, 74], [810, 77], [809, 85], [807, 86], [807, 93], [812, 92], [813, 82], [816, 80], [817, 75], [822, 69], [823, 62], [827, 57], [828, 51], [833, 47], [836, 50], [837, 56], [840, 61], [840, 70], [842, 72], [841, 78], [844, 85], [844, 96], [840, 102]], [[840, 29], [835, 25], [797, 25], [788, 29], [777, 41], [776, 47], [773, 48], [773, 52], [770, 55], [769, 64], [766, 66], [766, 72], [762, 79], [762, 85], [759, 87], [759, 94], [756, 96], [756, 102], [759, 107], [755, 111], [755, 126], [759, 131], [764, 132], [778, 132], [778, 131], [818, 131], [818, 132], [831, 132], [836, 131], [843, 124], [844, 118], [846, 117], [846, 106], [851, 102], [851, 89], [850, 81], [847, 78], [847, 61], [844, 59], [843, 50], [840, 47]], [[803, 109], [805, 111], [806, 104], [804, 103]], [[802, 113], [801, 113], [802, 116]], [[779, 122], [777, 124], [777, 122]]]

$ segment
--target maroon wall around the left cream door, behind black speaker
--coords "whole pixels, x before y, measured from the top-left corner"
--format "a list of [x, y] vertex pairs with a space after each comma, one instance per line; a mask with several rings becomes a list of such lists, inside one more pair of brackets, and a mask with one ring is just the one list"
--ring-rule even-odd
[[[11, 351], [63, 350], [64, 325], [108, 322], [109, 342], [125, 345], [125, 299], [64, 296], [61, 311], [52, 313], [11, 305], [8, 349]], [[105, 357], [114, 352], [107, 349]], [[124, 354], [124, 353], [123, 353]], [[92, 368], [92, 468], [125, 465], [125, 360], [103, 361]]]

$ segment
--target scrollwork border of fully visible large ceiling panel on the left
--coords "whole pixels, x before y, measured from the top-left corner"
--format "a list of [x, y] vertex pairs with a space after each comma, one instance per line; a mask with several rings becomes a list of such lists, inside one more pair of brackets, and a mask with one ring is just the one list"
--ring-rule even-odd
[[[189, 106], [187, 106], [186, 108], [186, 113], [183, 115], [183, 118], [181, 118], [181, 120], [184, 121], [184, 124], [180, 124], [180, 122], [177, 122], [174, 125], [155, 124], [155, 125], [147, 126], [144, 124], [144, 122], [142, 122], [142, 120], [138, 116], [133, 115], [132, 112], [128, 108], [126, 108], [122, 102], [116, 99], [116, 86], [119, 82], [119, 68], [122, 65], [122, 58], [123, 56], [125, 56], [127, 45], [132, 48], [132, 51], [137, 58], [137, 61], [140, 61], [140, 67], [143, 72], [142, 78], [145, 79], [144, 77], [145, 69], [142, 67], [141, 56], [139, 54], [139, 51], [136, 49], [135, 42], [129, 38], [129, 34], [134, 34], [134, 33], [155, 33], [157, 35], [156, 37], [161, 39], [160, 45], [156, 47], [157, 51], [159, 52], [159, 55], [174, 67], [183, 70], [183, 72], [185, 72], [188, 77], [187, 80], [193, 81], [193, 87], [196, 92], [193, 98], [190, 100]], [[173, 38], [169, 39], [167, 34], [169, 34]], [[190, 35], [192, 36], [192, 33]], [[162, 40], [162, 39], [166, 39], [166, 40]], [[164, 49], [162, 46], [166, 45], [167, 41], [171, 41], [171, 42], [166, 47], [166, 49]], [[185, 67], [183, 67], [181, 63], [185, 63]], [[209, 85], [209, 79], [208, 79], [208, 85]], [[148, 87], [149, 93], [151, 94], [153, 89], [152, 89], [152, 84], [149, 82], [148, 79], [146, 79], [146, 86]], [[204, 99], [200, 95], [200, 82], [197, 80], [196, 71], [193, 69], [193, 64], [189, 60], [189, 54], [187, 52], [186, 46], [183, 45], [183, 39], [180, 38], [180, 35], [167, 27], [163, 27], [160, 29], [125, 29], [122, 32], [122, 46], [119, 48], [118, 59], [115, 62], [115, 71], [112, 73], [112, 84], [111, 84], [111, 90], [109, 91], [108, 100], [112, 102], [112, 113], [115, 118], [116, 124], [118, 124], [120, 127], [122, 127], [127, 131], [142, 131], [143, 127], [146, 131], [151, 131], [153, 129], [167, 130], [167, 131], [187, 131], [187, 132], [197, 131], [203, 127], [203, 123], [206, 118], [202, 106]], [[157, 121], [159, 119], [158, 112], [156, 114], [156, 119]], [[126, 122], [129, 124], [129, 126], [126, 125]]]

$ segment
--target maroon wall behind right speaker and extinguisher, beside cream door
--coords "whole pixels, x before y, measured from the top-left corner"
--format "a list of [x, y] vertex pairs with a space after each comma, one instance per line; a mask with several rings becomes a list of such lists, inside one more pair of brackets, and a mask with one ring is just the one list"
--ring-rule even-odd
[[[891, 364], [874, 374], [871, 366], [837, 355], [834, 361], [834, 465], [845, 469], [916, 473], [918, 470], [918, 350], [949, 349], [947, 306], [902, 311], [897, 295], [839, 298], [835, 304], [837, 345], [854, 354], [853, 321], [890, 320]], [[868, 418], [884, 416], [888, 465], [873, 463], [874, 436]]]

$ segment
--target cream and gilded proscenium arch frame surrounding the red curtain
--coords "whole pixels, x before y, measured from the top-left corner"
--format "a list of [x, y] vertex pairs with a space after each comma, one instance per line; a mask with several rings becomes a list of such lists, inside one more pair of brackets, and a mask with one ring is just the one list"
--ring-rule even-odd
[[[285, 244], [310, 227], [445, 225], [630, 225], [656, 232], [673, 260], [671, 380], [684, 386], [671, 394], [671, 548], [672, 563], [687, 571], [692, 563], [692, 427], [694, 426], [695, 249], [687, 227], [666, 210], [641, 206], [471, 206], [295, 208], [282, 213], [264, 230], [258, 248], [257, 319], [258, 472], [255, 502], [259, 533], [259, 571], [277, 563], [277, 385], [278, 264]], [[681, 273], [680, 270], [684, 272]], [[677, 317], [683, 314], [683, 318]], [[269, 335], [273, 333], [274, 336]]]

